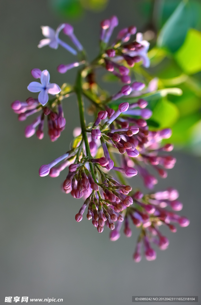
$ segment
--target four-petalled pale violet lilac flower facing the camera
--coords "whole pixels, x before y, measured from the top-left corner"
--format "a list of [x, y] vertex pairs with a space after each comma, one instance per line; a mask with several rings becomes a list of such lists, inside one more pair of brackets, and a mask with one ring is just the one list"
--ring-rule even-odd
[[38, 102], [41, 103], [42, 106], [48, 102], [48, 93], [55, 95], [61, 91], [57, 84], [51, 84], [49, 82], [49, 78], [50, 76], [48, 70], [43, 70], [40, 77], [41, 84], [37, 81], [32, 81], [27, 87], [27, 89], [31, 92], [40, 92], [38, 94]]

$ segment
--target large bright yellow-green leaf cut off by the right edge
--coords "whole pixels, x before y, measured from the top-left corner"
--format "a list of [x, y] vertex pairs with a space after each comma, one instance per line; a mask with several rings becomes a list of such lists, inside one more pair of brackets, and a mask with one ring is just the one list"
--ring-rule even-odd
[[201, 70], [201, 32], [188, 30], [184, 44], [176, 52], [175, 59], [187, 74]]

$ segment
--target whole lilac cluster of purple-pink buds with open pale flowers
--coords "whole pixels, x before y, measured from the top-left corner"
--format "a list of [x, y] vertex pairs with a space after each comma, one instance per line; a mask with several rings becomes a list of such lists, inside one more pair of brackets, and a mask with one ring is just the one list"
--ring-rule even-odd
[[[27, 89], [39, 92], [38, 98], [31, 97], [26, 102], [17, 100], [11, 107], [18, 114], [19, 120], [26, 120], [28, 116], [42, 111], [42, 114], [25, 128], [25, 136], [29, 138], [36, 133], [37, 137], [42, 139], [44, 118], [47, 116], [48, 134], [51, 141], [55, 141], [66, 124], [63, 99], [70, 94], [77, 96], [81, 128], [75, 130], [70, 150], [42, 165], [39, 175], [58, 177], [60, 172], [68, 167], [68, 174], [62, 186], [63, 192], [85, 200], [75, 215], [75, 220], [82, 220], [87, 207], [87, 218], [92, 219], [97, 231], [101, 233], [106, 224], [112, 230], [110, 239], [115, 241], [120, 236], [123, 222], [125, 235], [131, 236], [131, 219], [141, 230], [133, 255], [134, 260], [141, 260], [142, 244], [146, 259], [154, 260], [156, 252], [150, 243], [155, 243], [163, 250], [169, 245], [168, 239], [160, 233], [158, 227], [164, 224], [175, 232], [176, 227], [172, 222], [185, 227], [189, 221], [169, 209], [182, 209], [175, 189], [168, 188], [166, 191], [143, 195], [140, 191], [132, 192], [126, 177], [139, 174], [149, 189], [153, 189], [158, 182], [157, 176], [166, 178], [167, 169], [174, 167], [176, 159], [169, 155], [173, 145], [162, 143], [163, 139], [170, 138], [172, 131], [170, 128], [149, 130], [147, 120], [152, 116], [152, 111], [143, 95], [157, 89], [156, 80], [149, 84], [132, 80], [132, 67], [135, 63], [142, 62], [144, 67], [149, 66], [149, 43], [143, 40], [142, 34], [137, 33], [134, 26], [120, 30], [115, 40], [109, 43], [113, 30], [118, 26], [116, 16], [103, 20], [100, 26], [100, 55], [91, 63], [87, 62], [85, 51], [70, 24], [63, 23], [56, 31], [47, 26], [42, 27], [45, 39], [39, 42], [39, 48], [49, 45], [50, 48], [57, 49], [61, 45], [73, 55], [78, 55], [78, 59], [73, 63], [60, 64], [57, 71], [64, 74], [74, 67], [82, 65], [82, 68], [78, 71], [73, 86], [63, 84], [61, 88], [49, 82], [47, 70], [31, 70], [32, 76], [40, 78], [41, 83], [31, 82]], [[77, 51], [60, 40], [61, 30]], [[132, 40], [135, 34], [135, 40]], [[102, 67], [118, 77], [124, 83], [121, 90], [109, 96], [101, 89], [95, 77], [97, 67]], [[48, 94], [53, 95], [53, 99], [49, 100]], [[93, 123], [88, 125], [85, 122], [83, 96], [91, 102], [94, 114]], [[119, 154], [120, 163], [116, 161], [114, 153]], [[150, 173], [150, 169], [151, 172], [155, 171], [155, 174]]]

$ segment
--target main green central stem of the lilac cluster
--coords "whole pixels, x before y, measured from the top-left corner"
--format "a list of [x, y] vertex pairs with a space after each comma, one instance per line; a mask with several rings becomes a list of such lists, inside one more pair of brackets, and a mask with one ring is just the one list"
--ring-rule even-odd
[[[85, 120], [85, 116], [84, 116], [84, 101], [82, 99], [82, 76], [81, 76], [81, 71], [79, 71], [78, 75], [77, 75], [77, 80], [76, 80], [76, 84], [75, 84], [75, 92], [77, 94], [77, 99], [78, 99], [80, 125], [81, 125], [81, 129], [82, 129], [82, 137], [84, 139], [85, 148], [86, 148], [86, 156], [91, 159], [92, 156], [91, 156], [89, 142], [88, 142], [87, 135], [86, 135], [86, 120]], [[92, 163], [89, 163], [89, 166], [90, 166], [91, 175], [93, 177], [93, 180], [94, 180], [95, 183], [97, 183]]]

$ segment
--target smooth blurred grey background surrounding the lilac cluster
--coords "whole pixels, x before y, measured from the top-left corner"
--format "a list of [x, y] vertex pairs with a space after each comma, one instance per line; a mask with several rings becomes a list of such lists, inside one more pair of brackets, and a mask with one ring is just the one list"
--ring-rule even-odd
[[[138, 1], [139, 2], [139, 1]], [[99, 23], [112, 14], [121, 27], [135, 24], [142, 30], [146, 20], [135, 9], [137, 1], [110, 0], [102, 13], [90, 13], [73, 22], [75, 33], [90, 59], [98, 51]], [[37, 48], [42, 39], [41, 25], [56, 28], [63, 20], [45, 0], [6, 0], [0, 2], [1, 71], [1, 293], [29, 298], [63, 298], [63, 304], [132, 304], [134, 295], [192, 296], [200, 294], [200, 159], [174, 152], [177, 163], [160, 180], [156, 189], [173, 186], [184, 203], [181, 215], [191, 223], [164, 234], [170, 239], [166, 251], [157, 249], [157, 259], [137, 264], [132, 255], [137, 229], [130, 239], [108, 239], [109, 229], [98, 234], [91, 221], [75, 221], [82, 199], [60, 191], [66, 172], [58, 178], [38, 175], [38, 168], [68, 150], [72, 131], [79, 126], [74, 97], [65, 100], [66, 129], [51, 143], [26, 139], [24, 127], [32, 118], [18, 122], [10, 108], [15, 99], [25, 100], [33, 81], [32, 68], [47, 69], [50, 81], [61, 85], [75, 77], [75, 71], [61, 75], [56, 67], [70, 63], [73, 56], [58, 50]], [[142, 185], [140, 178], [131, 184]], [[21, 301], [21, 300], [20, 300]]]

